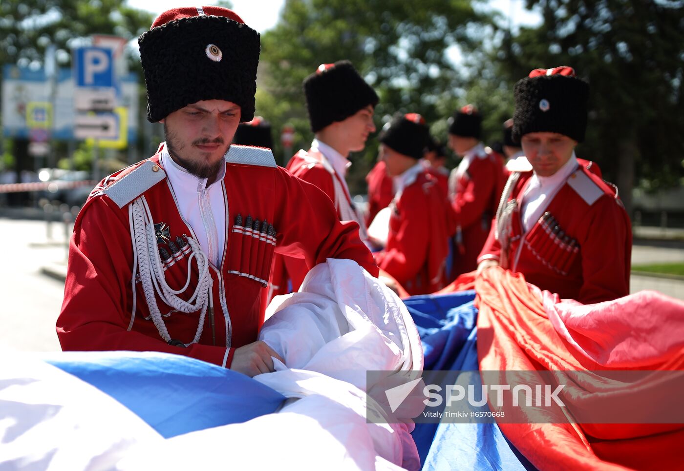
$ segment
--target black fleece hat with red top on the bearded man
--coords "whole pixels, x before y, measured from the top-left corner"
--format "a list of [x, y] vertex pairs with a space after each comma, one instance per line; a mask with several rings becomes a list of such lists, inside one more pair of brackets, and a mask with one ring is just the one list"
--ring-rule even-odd
[[137, 42], [148, 121], [163, 120], [200, 100], [230, 101], [241, 108], [241, 121], [254, 117], [259, 33], [232, 10], [167, 10]]

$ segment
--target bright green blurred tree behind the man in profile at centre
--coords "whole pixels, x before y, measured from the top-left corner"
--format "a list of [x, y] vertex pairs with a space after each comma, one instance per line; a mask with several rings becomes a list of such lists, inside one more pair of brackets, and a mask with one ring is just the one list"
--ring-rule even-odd
[[[257, 113], [276, 134], [293, 124], [295, 144], [308, 146], [313, 135], [302, 81], [319, 64], [349, 59], [380, 96], [378, 126], [396, 112], [421, 113], [428, 123], [443, 120], [464, 83], [447, 49], [474, 49], [480, 39], [469, 26], [486, 23], [488, 16], [468, 0], [287, 0], [276, 27], [261, 38]], [[376, 149], [376, 141], [369, 142], [352, 167], [352, 191], [363, 189]]]

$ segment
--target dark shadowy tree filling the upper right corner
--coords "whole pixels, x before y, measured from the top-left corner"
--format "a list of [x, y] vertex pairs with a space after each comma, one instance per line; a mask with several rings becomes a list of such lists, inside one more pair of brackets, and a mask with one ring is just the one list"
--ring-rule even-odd
[[534, 68], [570, 65], [591, 87], [582, 157], [597, 161], [631, 208], [635, 184], [684, 176], [684, 2], [527, 0], [539, 27], [507, 34], [495, 51], [512, 85]]

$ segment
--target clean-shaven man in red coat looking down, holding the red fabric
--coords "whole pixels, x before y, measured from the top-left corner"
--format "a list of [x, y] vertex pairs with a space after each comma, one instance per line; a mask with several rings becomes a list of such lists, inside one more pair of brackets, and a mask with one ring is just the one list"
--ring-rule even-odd
[[[631, 224], [616, 189], [575, 157], [589, 85], [570, 67], [516, 83], [512, 171], [479, 269], [501, 265], [542, 289], [591, 304], [629, 294]], [[513, 165], [512, 165], [513, 164]]]

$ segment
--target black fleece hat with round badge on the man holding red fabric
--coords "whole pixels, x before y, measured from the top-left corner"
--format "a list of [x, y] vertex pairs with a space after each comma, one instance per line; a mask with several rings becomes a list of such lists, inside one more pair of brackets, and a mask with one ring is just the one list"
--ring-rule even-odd
[[514, 89], [513, 139], [527, 133], [559, 133], [584, 140], [589, 84], [572, 67], [535, 69]]

